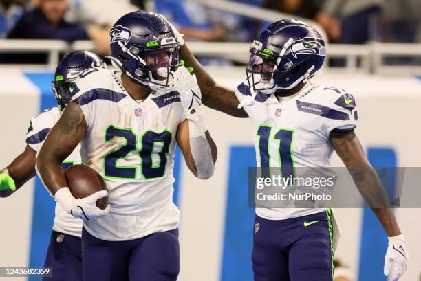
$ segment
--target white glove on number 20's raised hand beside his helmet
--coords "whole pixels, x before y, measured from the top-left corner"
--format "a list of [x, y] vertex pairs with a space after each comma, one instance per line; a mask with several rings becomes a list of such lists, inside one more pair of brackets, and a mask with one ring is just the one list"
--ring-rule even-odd
[[195, 74], [191, 74], [186, 67], [182, 66], [174, 72], [174, 78], [184, 111], [199, 110], [202, 105], [202, 92], [197, 85]]

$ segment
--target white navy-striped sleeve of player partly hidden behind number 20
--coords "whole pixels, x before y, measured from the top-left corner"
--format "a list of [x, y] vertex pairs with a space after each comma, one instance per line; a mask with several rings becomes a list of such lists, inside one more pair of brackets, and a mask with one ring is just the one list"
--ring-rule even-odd
[[36, 153], [39, 152], [41, 146], [50, 133], [56, 120], [60, 117], [60, 111], [57, 107], [45, 110], [36, 117], [31, 119], [28, 133], [26, 133], [26, 144], [30, 146]]

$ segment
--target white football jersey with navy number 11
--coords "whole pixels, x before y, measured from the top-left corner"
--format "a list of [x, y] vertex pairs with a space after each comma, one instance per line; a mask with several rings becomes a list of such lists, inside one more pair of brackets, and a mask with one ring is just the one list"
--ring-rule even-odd
[[[235, 95], [241, 102], [250, 88], [241, 84]], [[355, 99], [343, 89], [307, 83], [299, 93], [278, 98], [258, 92], [244, 106], [255, 124], [257, 167], [280, 168], [282, 177], [294, 177], [297, 167], [332, 167], [334, 151], [329, 135], [334, 129], [350, 130], [357, 124]], [[286, 219], [322, 212], [321, 208], [257, 208], [267, 219]]]

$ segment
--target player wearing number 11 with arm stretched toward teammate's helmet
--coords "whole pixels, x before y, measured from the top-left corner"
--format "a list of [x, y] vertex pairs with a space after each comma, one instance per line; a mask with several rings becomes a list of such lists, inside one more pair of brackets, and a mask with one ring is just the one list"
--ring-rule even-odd
[[[380, 195], [384, 188], [354, 133], [355, 98], [343, 89], [309, 82], [325, 60], [323, 38], [310, 25], [285, 19], [261, 32], [250, 53], [247, 80], [235, 92], [217, 86], [186, 45], [181, 56], [195, 69], [206, 106], [250, 117], [255, 124], [258, 167], [294, 177], [300, 167], [332, 167], [330, 157], [336, 151], [347, 168], [363, 171], [349, 170], [363, 197], [381, 202], [373, 211], [389, 236], [384, 273], [398, 280], [407, 269], [408, 251], [389, 202]], [[254, 230], [255, 280], [332, 280], [333, 244], [338, 240], [332, 210], [257, 208]]]

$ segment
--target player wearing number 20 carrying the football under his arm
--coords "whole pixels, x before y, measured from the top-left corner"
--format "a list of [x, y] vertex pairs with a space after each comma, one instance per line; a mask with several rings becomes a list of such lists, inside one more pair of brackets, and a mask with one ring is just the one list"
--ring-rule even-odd
[[[176, 280], [175, 145], [200, 179], [213, 175], [216, 146], [195, 76], [180, 66], [180, 43], [162, 16], [132, 12], [110, 36], [111, 61], [121, 71], [80, 74], [69, 88], [72, 102], [41, 148], [39, 171], [58, 203], [84, 220], [85, 281]], [[105, 210], [74, 199], [67, 188], [59, 164], [80, 141], [83, 164], [107, 184]]]

